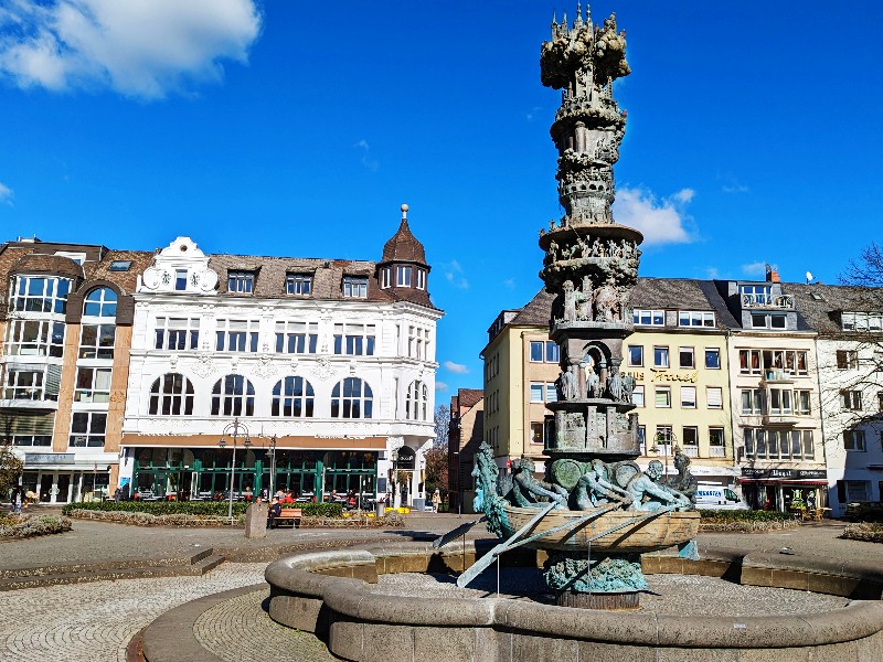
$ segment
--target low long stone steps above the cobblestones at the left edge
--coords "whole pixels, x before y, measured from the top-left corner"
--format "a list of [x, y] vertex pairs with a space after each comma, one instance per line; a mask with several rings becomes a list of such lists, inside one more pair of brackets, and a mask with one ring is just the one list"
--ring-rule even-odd
[[141, 562], [108, 562], [74, 566], [22, 568], [18, 575], [12, 576], [10, 575], [17, 570], [4, 570], [6, 576], [0, 578], [0, 591], [88, 581], [200, 576], [217, 567], [223, 562], [223, 556], [212, 555], [211, 549], [209, 549], [183, 559], [143, 559]]

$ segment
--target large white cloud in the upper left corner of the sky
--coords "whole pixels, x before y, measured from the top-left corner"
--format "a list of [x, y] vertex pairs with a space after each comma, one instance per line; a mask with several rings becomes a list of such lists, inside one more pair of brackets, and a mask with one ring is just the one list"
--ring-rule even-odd
[[247, 62], [253, 0], [11, 0], [0, 11], [0, 73], [20, 87], [107, 87], [156, 99]]

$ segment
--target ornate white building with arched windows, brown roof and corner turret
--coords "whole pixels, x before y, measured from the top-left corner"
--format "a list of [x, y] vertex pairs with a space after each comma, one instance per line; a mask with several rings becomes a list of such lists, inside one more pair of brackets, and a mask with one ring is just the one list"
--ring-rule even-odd
[[208, 256], [177, 238], [135, 295], [123, 479], [188, 499], [231, 479], [234, 493], [422, 496], [443, 314], [428, 271], [405, 214], [380, 263]]

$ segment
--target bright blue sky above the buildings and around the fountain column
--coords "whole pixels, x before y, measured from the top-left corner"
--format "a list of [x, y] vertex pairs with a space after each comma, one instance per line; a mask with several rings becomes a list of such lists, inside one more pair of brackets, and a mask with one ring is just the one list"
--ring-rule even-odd
[[[411, 205], [481, 386], [561, 210], [540, 85], [572, 3], [0, 0], [0, 239], [379, 259]], [[643, 276], [836, 282], [881, 241], [883, 3], [598, 1], [627, 31], [617, 218]]]

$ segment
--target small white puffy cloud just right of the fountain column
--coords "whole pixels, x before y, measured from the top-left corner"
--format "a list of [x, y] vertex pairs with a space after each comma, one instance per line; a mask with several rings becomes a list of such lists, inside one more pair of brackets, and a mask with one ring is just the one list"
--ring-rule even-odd
[[661, 199], [646, 189], [620, 189], [614, 202], [614, 217], [617, 223], [639, 229], [645, 244], [687, 244], [693, 237], [684, 227], [692, 220], [685, 207], [694, 196], [693, 189], [681, 189]]

